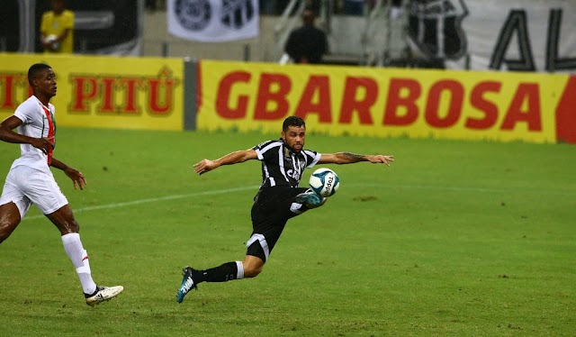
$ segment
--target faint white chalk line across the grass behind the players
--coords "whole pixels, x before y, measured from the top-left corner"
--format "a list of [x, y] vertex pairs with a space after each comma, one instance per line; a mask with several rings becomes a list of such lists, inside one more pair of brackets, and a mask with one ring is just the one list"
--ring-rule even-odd
[[[349, 184], [349, 187], [375, 187], [371, 184]], [[212, 195], [223, 195], [226, 193], [232, 192], [242, 192], [247, 191], [249, 189], [257, 190], [257, 186], [252, 187], [236, 187], [236, 188], [228, 188], [228, 189], [219, 189], [215, 191], [204, 191], [204, 192], [194, 192], [188, 193], [185, 195], [174, 195], [174, 196], [160, 196], [148, 199], [139, 199], [134, 201], [127, 201], [123, 203], [114, 203], [108, 205], [97, 205], [97, 206], [87, 206], [83, 208], [77, 208], [73, 210], [74, 213], [79, 212], [86, 212], [86, 211], [98, 211], [103, 209], [110, 209], [110, 208], [118, 208], [130, 205], [141, 205], [141, 204], [149, 204], [155, 203], [157, 201], [166, 201], [166, 200], [175, 200], [175, 199], [184, 199], [186, 197], [193, 197], [193, 196], [212, 196]], [[382, 188], [382, 187], [377, 187]], [[535, 190], [527, 190], [527, 189], [505, 189], [505, 188], [482, 188], [482, 187], [437, 187], [432, 185], [401, 185], [401, 184], [386, 184], [386, 188], [406, 188], [406, 189], [432, 189], [432, 190], [444, 190], [444, 191], [463, 191], [463, 192], [481, 192], [481, 193], [537, 193], [539, 195], [556, 195], [556, 196], [576, 196], [576, 191], [558, 191], [558, 190], [542, 190], [542, 189], [535, 189]], [[25, 220], [34, 220], [40, 219], [44, 217], [43, 214], [41, 215], [33, 215], [33, 216], [26, 216], [23, 218]]]

